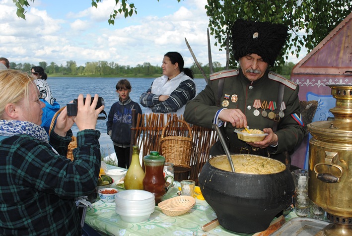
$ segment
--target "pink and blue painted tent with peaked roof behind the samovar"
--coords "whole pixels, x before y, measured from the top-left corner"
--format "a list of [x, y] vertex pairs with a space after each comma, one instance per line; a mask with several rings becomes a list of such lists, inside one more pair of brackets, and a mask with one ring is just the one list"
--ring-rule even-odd
[[[327, 84], [352, 84], [352, 13], [292, 69], [291, 80], [299, 85], [299, 99], [318, 101], [312, 122], [333, 117], [336, 106]], [[292, 165], [308, 169], [311, 135], [292, 155]]]

